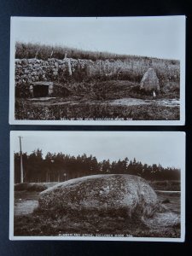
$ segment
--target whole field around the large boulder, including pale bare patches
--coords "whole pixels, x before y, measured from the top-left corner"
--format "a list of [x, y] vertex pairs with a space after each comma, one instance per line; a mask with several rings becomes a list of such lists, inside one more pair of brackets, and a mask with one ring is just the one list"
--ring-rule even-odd
[[[172, 183], [175, 189], [176, 184]], [[164, 185], [161, 182], [161, 189]], [[118, 210], [101, 212], [99, 216], [93, 212], [70, 212], [63, 217], [63, 212], [53, 214], [38, 209], [39, 192], [15, 191], [15, 236], [180, 237], [180, 191], [174, 188], [156, 191], [166, 212], [155, 213], [154, 218], [143, 221], [130, 220]]]

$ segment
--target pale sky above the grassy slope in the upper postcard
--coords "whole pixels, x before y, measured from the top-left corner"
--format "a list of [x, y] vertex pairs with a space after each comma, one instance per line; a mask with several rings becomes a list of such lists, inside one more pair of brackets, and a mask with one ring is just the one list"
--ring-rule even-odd
[[116, 54], [181, 60], [184, 16], [12, 18], [12, 39]]

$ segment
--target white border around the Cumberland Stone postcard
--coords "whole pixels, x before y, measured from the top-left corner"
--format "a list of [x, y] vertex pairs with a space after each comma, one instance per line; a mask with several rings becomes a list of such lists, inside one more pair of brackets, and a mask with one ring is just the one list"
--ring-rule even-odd
[[[168, 242], [183, 242], [185, 241], [185, 152], [186, 152], [186, 134], [183, 131], [164, 131], [164, 134], [177, 133], [183, 136], [183, 155], [181, 155], [181, 237], [180, 238], [156, 238], [156, 237], [103, 237], [103, 236], [14, 236], [14, 137], [20, 135], [30, 135], [30, 133], [46, 133], [50, 131], [10, 131], [10, 188], [9, 188], [9, 240], [52, 240], [52, 241], [168, 241]], [[51, 131], [54, 133], [85, 133], [87, 131]], [[89, 133], [104, 134], [109, 131], [89, 131]], [[114, 131], [110, 131], [112, 134]], [[120, 131], [124, 136], [127, 133], [150, 133], [151, 135], [162, 135], [162, 131]]]

